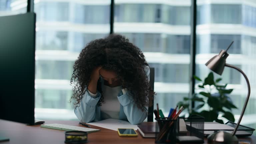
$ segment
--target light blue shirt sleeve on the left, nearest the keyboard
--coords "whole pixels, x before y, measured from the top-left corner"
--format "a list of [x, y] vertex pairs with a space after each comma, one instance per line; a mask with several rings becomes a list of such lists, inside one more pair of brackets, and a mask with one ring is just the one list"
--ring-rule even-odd
[[80, 106], [75, 107], [75, 115], [77, 118], [84, 123], [89, 123], [95, 120], [96, 105], [101, 98], [99, 92], [96, 96], [90, 94], [87, 90], [80, 101]]

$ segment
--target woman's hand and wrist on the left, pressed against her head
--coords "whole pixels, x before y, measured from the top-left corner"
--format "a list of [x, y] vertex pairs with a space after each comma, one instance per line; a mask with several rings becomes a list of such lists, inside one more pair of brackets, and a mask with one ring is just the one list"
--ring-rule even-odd
[[97, 67], [92, 71], [91, 74], [91, 81], [89, 82], [88, 85], [88, 90], [93, 93], [96, 94], [97, 93], [97, 82], [100, 78], [100, 73], [99, 70], [101, 69], [101, 67]]

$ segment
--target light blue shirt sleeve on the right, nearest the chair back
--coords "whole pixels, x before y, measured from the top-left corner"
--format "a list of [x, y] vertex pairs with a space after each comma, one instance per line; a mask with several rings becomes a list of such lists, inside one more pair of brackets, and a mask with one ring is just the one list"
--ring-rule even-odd
[[[146, 76], [149, 81], [149, 67], [146, 66], [144, 68], [144, 71], [146, 73]], [[124, 113], [128, 119], [128, 121], [133, 124], [139, 124], [142, 123], [148, 116], [148, 107], [144, 106], [142, 109], [137, 107], [137, 104], [134, 102], [133, 97], [128, 92], [123, 93], [123, 95], [117, 97], [120, 104], [124, 107]]]

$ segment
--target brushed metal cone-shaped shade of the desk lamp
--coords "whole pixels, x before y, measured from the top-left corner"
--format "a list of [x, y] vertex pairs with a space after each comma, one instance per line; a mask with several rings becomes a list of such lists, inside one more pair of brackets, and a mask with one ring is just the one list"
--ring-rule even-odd
[[228, 54], [226, 53], [226, 51], [221, 50], [218, 55], [211, 58], [205, 65], [215, 73], [222, 75], [227, 57]]

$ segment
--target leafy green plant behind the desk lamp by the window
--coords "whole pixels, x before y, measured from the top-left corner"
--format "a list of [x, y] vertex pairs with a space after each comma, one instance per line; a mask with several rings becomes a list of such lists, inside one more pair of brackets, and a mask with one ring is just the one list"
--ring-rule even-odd
[[[221, 78], [214, 80], [212, 72], [204, 79], [204, 82], [197, 76], [194, 76], [194, 78], [202, 82], [202, 84], [198, 85], [201, 91], [195, 93], [192, 98], [184, 97], [183, 101], [178, 102], [177, 105], [188, 109], [190, 115], [203, 116], [206, 122], [216, 121], [223, 124], [223, 121], [218, 119], [219, 114], [234, 122], [235, 118], [231, 111], [232, 109], [237, 109], [237, 107], [228, 96], [233, 89], [227, 89], [227, 84], [219, 84], [222, 80]], [[195, 102], [196, 106], [190, 109], [189, 105], [192, 102]]]

